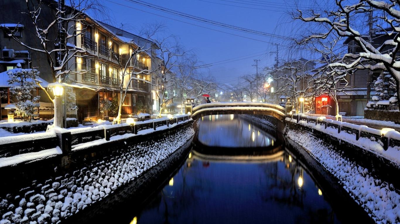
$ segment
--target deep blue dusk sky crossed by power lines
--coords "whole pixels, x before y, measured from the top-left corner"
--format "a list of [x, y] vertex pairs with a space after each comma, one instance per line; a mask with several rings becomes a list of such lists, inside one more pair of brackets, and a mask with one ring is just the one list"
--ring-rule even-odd
[[[230, 63], [222, 63], [201, 70], [205, 74], [210, 73], [213, 75], [219, 83], [237, 84], [238, 77], [256, 73], [256, 67], [252, 66], [255, 64], [254, 59], [260, 60], [258, 62], [259, 69], [266, 66], [273, 66], [276, 57], [276, 46], [271, 43], [281, 44], [281, 46], [278, 47], [279, 60], [281, 62], [285, 59], [296, 59], [308, 56], [304, 55], [304, 53], [290, 53], [287, 47], [282, 45], [290, 45], [292, 43], [283, 41], [282, 39], [233, 31], [188, 20], [187, 18], [181, 18], [151, 8], [146, 8], [145, 6], [140, 6], [129, 0], [103, 0], [103, 2], [104, 6], [111, 11], [109, 15], [106, 15], [104, 22], [119, 28], [121, 24], [123, 24], [124, 29], [133, 33], [138, 33], [143, 24], [162, 22], [167, 27], [167, 33], [178, 36], [181, 44], [186, 49], [194, 49], [199, 60], [203, 62], [200, 64], [233, 59]], [[288, 10], [294, 10], [296, 8], [293, 2], [290, 1], [147, 0], [146, 2], [193, 16], [266, 33], [291, 35], [293, 32], [298, 31], [296, 24], [292, 22], [291, 16], [287, 13]], [[302, 2], [299, 7], [308, 8], [310, 4], [311, 2]], [[211, 29], [217, 29], [219, 31]], [[222, 33], [220, 31], [242, 35], [252, 39]]]

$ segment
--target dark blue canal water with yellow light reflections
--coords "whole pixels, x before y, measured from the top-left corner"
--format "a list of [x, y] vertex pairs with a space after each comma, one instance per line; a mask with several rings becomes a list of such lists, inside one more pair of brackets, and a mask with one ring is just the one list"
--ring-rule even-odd
[[341, 223], [304, 166], [247, 120], [206, 116], [194, 141], [130, 223]]

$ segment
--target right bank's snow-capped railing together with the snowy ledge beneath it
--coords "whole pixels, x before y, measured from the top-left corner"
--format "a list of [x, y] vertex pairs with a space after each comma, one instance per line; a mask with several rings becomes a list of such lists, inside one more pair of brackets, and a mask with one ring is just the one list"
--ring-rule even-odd
[[400, 161], [400, 133], [391, 128], [378, 130], [366, 125], [300, 114], [287, 116], [286, 120], [314, 128], [354, 145], [372, 150], [392, 161]]

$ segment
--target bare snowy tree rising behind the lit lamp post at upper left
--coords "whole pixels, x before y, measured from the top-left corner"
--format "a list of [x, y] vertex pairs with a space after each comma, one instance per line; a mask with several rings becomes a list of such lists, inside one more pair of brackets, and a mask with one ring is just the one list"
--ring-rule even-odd
[[[45, 19], [45, 7], [50, 7], [55, 11], [55, 14], [51, 18], [46, 17]], [[75, 57], [91, 57], [85, 54], [85, 49], [76, 47], [72, 43], [74, 43], [76, 36], [82, 35], [86, 31], [86, 28], [83, 28], [81, 25], [86, 11], [96, 8], [101, 9], [96, 0], [70, 0], [68, 6], [57, 6], [55, 2], [49, 3], [43, 0], [26, 0], [26, 11], [21, 13], [30, 18], [35, 30], [34, 34], [38, 39], [38, 47], [31, 46], [18, 38], [15, 35], [15, 29], [6, 29], [9, 29], [8, 33], [10, 33], [10, 36], [20, 45], [46, 55], [47, 62], [52, 71], [52, 79], [56, 81], [64, 78], [65, 74], [71, 72], [66, 66], [68, 61], [75, 59]], [[52, 34], [54, 33], [58, 33], [58, 35], [55, 39], [52, 39]], [[53, 102], [52, 97], [42, 87], [40, 82], [36, 83]]]

